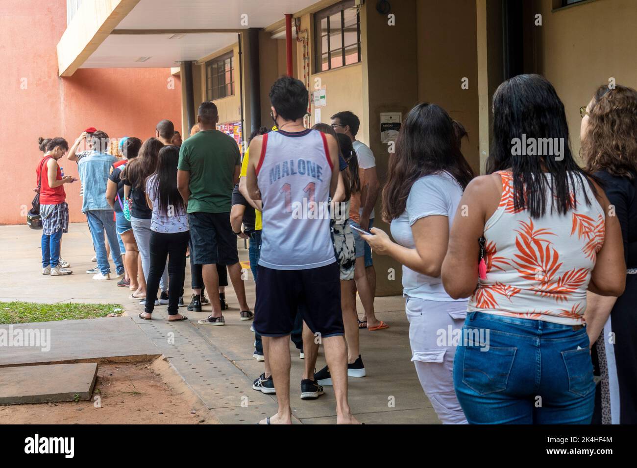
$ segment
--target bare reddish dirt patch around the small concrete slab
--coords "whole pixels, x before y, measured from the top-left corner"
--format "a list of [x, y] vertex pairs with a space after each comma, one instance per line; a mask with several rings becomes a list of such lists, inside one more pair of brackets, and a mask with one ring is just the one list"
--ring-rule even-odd
[[171, 372], [161, 360], [99, 364], [91, 401], [0, 406], [0, 424], [214, 424], [180, 385], [168, 385], [178, 382]]

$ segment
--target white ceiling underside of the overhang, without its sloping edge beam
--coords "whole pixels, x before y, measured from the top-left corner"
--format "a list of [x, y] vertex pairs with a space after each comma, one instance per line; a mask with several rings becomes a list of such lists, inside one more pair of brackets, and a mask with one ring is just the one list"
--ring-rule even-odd
[[[140, 0], [81, 67], [178, 66], [181, 61], [199, 60], [236, 43], [236, 30], [267, 27], [282, 20], [285, 13], [296, 13], [316, 2], [317, 0]], [[145, 34], [145, 30], [153, 32]], [[215, 31], [187, 32], [189, 30]], [[176, 32], [180, 34], [175, 36]]]

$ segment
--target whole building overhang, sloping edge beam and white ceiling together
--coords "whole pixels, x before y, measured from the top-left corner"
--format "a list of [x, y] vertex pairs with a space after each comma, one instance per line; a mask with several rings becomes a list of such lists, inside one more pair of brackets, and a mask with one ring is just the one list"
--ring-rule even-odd
[[175, 67], [336, 0], [83, 1], [57, 44], [60, 76], [78, 68]]

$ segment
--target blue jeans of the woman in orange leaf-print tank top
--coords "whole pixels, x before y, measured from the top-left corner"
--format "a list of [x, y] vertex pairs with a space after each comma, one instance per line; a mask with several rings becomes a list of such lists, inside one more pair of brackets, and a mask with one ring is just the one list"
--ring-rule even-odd
[[469, 423], [590, 424], [585, 327], [470, 312], [462, 332], [454, 388]]

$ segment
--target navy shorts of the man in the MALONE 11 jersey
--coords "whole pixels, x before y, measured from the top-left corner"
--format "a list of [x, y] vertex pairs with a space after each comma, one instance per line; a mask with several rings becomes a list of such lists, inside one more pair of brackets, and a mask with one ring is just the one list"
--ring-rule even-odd
[[327, 338], [345, 333], [338, 263], [306, 270], [257, 267], [254, 329], [262, 336], [286, 336], [297, 309], [312, 333]]

